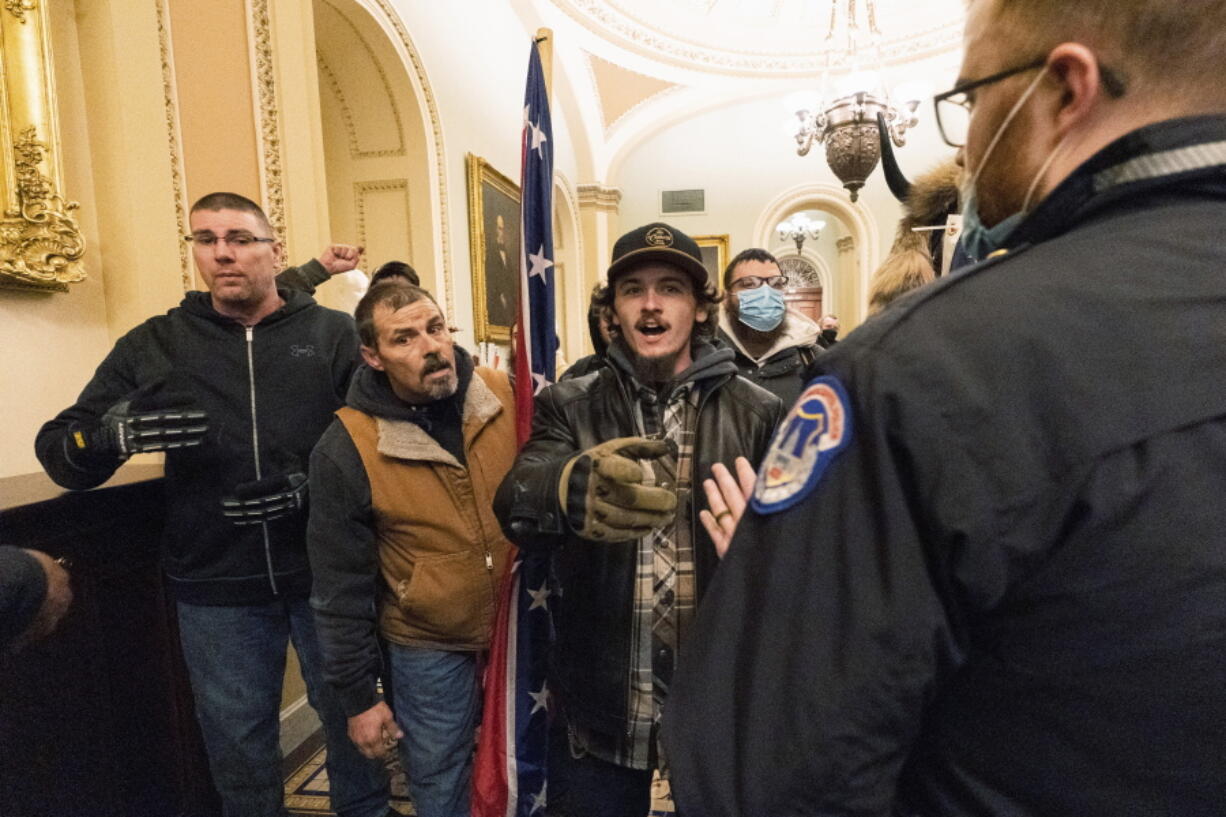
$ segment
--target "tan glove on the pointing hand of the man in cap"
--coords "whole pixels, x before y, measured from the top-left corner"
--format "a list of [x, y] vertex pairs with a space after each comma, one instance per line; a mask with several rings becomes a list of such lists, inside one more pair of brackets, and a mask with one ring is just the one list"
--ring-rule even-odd
[[664, 440], [620, 437], [566, 462], [558, 483], [562, 507], [584, 539], [624, 542], [672, 521], [677, 494], [642, 485], [642, 466], [668, 454]]

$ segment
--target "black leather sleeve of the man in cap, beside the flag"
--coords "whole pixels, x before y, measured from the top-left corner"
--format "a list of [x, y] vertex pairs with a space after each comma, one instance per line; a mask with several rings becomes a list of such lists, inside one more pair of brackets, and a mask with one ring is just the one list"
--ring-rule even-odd
[[532, 437], [494, 496], [494, 514], [509, 540], [525, 550], [547, 550], [565, 541], [570, 530], [558, 481], [566, 462], [580, 453], [555, 388], [547, 388], [536, 399]]

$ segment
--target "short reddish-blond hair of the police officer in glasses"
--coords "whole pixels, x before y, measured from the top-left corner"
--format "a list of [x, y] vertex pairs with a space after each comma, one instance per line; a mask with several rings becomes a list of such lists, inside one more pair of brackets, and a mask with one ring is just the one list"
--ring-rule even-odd
[[1129, 91], [1226, 103], [1226, 0], [969, 0], [977, 4], [992, 4], [1019, 59], [1080, 43]]

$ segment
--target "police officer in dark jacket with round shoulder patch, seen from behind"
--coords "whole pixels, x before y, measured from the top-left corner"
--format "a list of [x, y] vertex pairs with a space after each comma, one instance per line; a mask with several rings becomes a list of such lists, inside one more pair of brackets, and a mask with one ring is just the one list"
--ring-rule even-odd
[[707, 591], [685, 813], [1224, 813], [1226, 4], [1026, 7], [943, 94], [988, 260], [819, 358]]

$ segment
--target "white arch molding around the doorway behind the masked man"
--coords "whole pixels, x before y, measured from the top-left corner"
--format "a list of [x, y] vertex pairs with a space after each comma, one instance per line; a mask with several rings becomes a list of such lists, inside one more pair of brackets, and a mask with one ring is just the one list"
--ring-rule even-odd
[[[878, 263], [877, 248], [879, 236], [873, 213], [868, 211], [863, 201], [850, 201], [847, 193], [842, 188], [820, 183], [798, 184], [779, 194], [763, 209], [758, 222], [754, 224], [754, 243], [758, 247], [771, 247], [775, 244], [775, 227], [788, 213], [797, 210], [825, 210], [837, 216], [851, 231], [852, 239], [856, 243], [857, 288], [859, 290], [859, 298], [856, 304], [859, 314], [856, 319], [863, 319], [868, 312], [868, 281], [873, 275], [873, 270], [877, 269]], [[826, 297], [826, 281], [823, 280], [823, 302], [834, 304], [835, 298], [839, 297], [839, 285], [832, 281], [834, 276], [829, 274], [829, 270], [826, 275], [831, 278], [832, 286], [829, 291], [830, 296]]]

